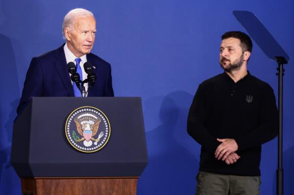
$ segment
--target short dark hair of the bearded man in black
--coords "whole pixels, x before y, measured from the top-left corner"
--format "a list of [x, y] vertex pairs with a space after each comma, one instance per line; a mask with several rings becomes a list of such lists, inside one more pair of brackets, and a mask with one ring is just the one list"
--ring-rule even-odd
[[221, 35], [221, 40], [228, 38], [236, 38], [241, 42], [242, 51], [252, 51], [252, 41], [248, 35], [241, 31], [229, 31]]

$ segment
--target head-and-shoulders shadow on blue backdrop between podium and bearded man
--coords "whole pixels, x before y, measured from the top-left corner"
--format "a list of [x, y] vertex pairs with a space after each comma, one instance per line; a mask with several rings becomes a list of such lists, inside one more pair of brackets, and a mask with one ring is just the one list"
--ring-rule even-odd
[[[175, 94], [177, 101], [180, 102], [174, 99]], [[178, 143], [177, 137], [174, 136], [175, 131], [187, 134], [187, 118], [181, 114], [181, 106], [179, 106], [191, 101], [185, 99], [189, 97], [186, 94], [178, 91], [170, 93], [163, 100], [162, 97], [147, 100], [147, 105], [151, 103], [148, 101], [152, 103], [162, 101], [159, 113], [153, 113], [159, 114], [161, 124], [146, 133], [149, 163], [138, 182], [139, 195], [195, 193], [195, 177], [199, 162]], [[185, 112], [188, 113], [188, 110]], [[146, 119], [145, 122], [147, 123], [148, 120]]]

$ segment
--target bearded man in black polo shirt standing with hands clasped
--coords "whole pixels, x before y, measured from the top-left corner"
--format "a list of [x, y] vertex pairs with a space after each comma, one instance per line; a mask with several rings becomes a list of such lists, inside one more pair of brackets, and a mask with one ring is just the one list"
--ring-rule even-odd
[[261, 145], [278, 132], [275, 96], [247, 71], [249, 36], [221, 39], [224, 72], [199, 85], [188, 115], [188, 133], [201, 145], [196, 195], [260, 195]]

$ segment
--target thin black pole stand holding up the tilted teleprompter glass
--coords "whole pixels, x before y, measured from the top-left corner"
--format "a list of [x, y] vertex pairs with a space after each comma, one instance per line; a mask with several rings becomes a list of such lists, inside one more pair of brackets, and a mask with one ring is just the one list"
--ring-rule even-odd
[[277, 168], [277, 195], [283, 195], [283, 76], [285, 69], [283, 65], [288, 64], [288, 61], [284, 57], [275, 57], [276, 62], [278, 63], [278, 80], [279, 80], [279, 99], [278, 99], [278, 108], [279, 108], [279, 133], [278, 133], [278, 168]]

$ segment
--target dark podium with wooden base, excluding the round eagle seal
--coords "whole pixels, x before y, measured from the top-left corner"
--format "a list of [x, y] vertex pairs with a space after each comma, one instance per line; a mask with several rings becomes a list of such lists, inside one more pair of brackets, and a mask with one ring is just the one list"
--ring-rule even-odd
[[[81, 107], [109, 120], [97, 152], [80, 152], [66, 137], [67, 118]], [[11, 164], [23, 195], [136, 195], [147, 162], [141, 98], [34, 97], [14, 123]]]

